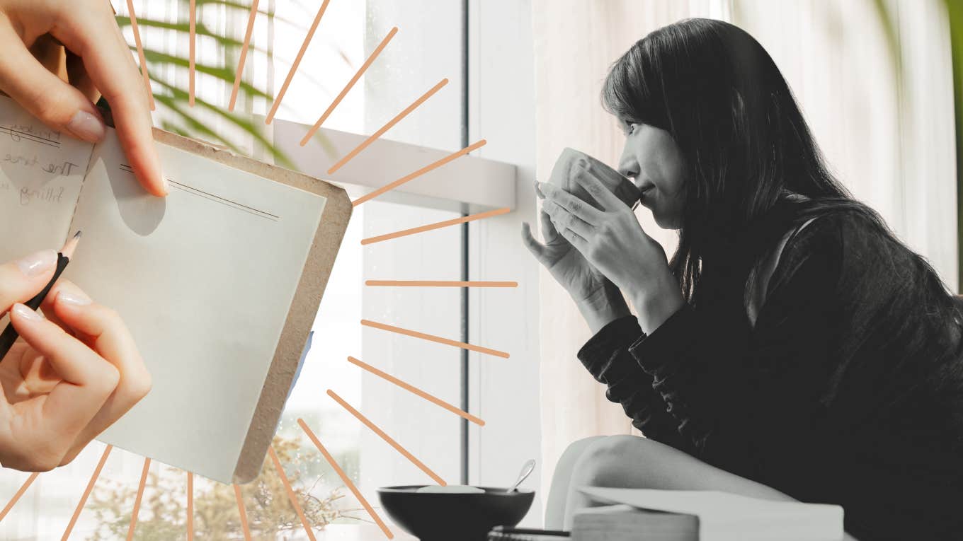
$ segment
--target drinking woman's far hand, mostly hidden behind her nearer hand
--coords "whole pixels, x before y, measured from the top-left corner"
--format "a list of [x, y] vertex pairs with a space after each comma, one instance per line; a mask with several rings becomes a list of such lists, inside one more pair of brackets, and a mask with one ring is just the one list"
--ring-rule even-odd
[[532, 227], [527, 222], [522, 223], [522, 240], [538, 263], [545, 266], [572, 296], [592, 333], [598, 332], [608, 322], [628, 316], [629, 306], [612, 282], [561, 237], [548, 214], [539, 212], [538, 218], [545, 243], [535, 240]]

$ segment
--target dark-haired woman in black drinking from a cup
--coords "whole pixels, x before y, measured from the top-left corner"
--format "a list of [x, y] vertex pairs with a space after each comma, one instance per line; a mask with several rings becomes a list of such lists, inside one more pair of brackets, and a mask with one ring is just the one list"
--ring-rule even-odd
[[566, 451], [549, 518], [563, 507], [568, 526], [582, 485], [703, 489], [837, 503], [864, 541], [963, 536], [963, 318], [829, 173], [765, 49], [681, 21], [612, 65], [603, 101], [620, 172], [679, 245], [666, 262], [590, 166], [571, 180], [594, 201], [536, 186], [545, 243], [527, 224], [525, 243], [595, 333], [579, 358], [648, 438]]

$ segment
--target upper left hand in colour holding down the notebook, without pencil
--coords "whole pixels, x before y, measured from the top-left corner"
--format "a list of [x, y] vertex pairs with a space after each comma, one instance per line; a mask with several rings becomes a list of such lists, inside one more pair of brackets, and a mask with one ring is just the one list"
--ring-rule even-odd
[[168, 193], [148, 90], [108, 0], [0, 0], [0, 48], [0, 90], [56, 131], [102, 140], [104, 120], [93, 104], [103, 94], [144, 189]]

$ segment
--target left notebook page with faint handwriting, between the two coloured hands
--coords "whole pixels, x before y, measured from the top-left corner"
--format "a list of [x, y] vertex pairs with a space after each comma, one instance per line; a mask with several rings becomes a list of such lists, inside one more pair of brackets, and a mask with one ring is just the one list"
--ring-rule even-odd
[[92, 147], [0, 96], [0, 263], [64, 244]]

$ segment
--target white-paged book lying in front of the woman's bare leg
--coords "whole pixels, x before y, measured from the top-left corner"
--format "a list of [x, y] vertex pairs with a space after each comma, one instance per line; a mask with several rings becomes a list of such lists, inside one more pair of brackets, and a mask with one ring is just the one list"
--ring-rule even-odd
[[[759, 500], [721, 491], [601, 487], [579, 490], [595, 502], [617, 506], [599, 512], [592, 512], [590, 508], [579, 511], [573, 516], [573, 541], [843, 539], [843, 507], [839, 505]], [[605, 528], [627, 536], [610, 536], [604, 533]], [[635, 537], [632, 537], [633, 529]]]

